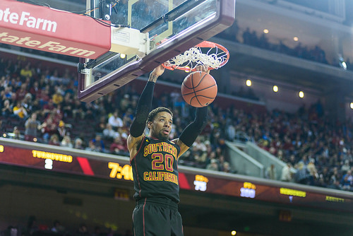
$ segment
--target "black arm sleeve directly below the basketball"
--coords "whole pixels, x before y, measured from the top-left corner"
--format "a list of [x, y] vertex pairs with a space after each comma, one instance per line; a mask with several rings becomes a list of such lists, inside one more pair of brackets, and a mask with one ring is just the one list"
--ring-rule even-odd
[[179, 140], [186, 146], [191, 147], [197, 136], [201, 134], [201, 131], [205, 128], [207, 123], [207, 110], [208, 107], [196, 108], [195, 119], [181, 132]]

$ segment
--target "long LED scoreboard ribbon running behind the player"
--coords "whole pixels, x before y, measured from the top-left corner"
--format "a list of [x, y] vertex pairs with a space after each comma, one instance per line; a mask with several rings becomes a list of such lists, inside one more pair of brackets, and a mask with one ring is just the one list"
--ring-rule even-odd
[[[128, 157], [0, 138], [0, 165], [131, 182]], [[353, 193], [179, 165], [179, 187], [280, 204], [353, 213]]]

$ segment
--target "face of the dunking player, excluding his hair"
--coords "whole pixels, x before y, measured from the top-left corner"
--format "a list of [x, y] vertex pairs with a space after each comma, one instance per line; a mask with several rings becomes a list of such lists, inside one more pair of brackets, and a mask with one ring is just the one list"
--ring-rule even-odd
[[151, 136], [154, 136], [162, 141], [166, 141], [172, 129], [173, 118], [168, 112], [159, 112], [150, 122]]

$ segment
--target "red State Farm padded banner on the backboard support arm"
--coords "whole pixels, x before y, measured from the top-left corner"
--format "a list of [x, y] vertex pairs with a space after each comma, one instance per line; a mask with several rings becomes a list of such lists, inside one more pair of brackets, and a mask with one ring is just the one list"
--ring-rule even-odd
[[110, 49], [110, 26], [89, 16], [1, 0], [0, 43], [97, 59]]

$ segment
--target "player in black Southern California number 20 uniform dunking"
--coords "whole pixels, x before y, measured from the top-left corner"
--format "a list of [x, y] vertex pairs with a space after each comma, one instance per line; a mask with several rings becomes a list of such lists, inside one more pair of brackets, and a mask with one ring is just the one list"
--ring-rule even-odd
[[[198, 70], [205, 71], [201, 67]], [[207, 119], [208, 108], [197, 108], [195, 119], [180, 137], [168, 140], [173, 123], [172, 112], [165, 107], [150, 112], [155, 82], [163, 72], [164, 67], [158, 66], [150, 73], [138, 100], [136, 117], [127, 140], [136, 191], [136, 208], [133, 210], [133, 232], [136, 236], [184, 235], [178, 211], [178, 158], [196, 140]], [[143, 134], [146, 122], [149, 136]]]

